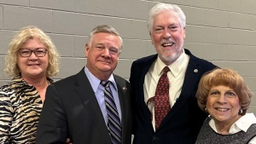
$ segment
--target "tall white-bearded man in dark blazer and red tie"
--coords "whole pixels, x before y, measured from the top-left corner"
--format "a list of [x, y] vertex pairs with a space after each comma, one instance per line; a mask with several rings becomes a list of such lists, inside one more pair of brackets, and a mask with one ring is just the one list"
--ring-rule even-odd
[[[157, 55], [135, 60], [131, 65], [134, 144], [194, 144], [207, 118], [197, 106], [195, 92], [202, 74], [216, 66], [183, 49], [185, 25], [185, 15], [177, 5], [157, 3], [149, 11], [148, 31]], [[168, 109], [160, 111], [155, 109], [163, 106], [157, 104], [160, 96], [156, 89], [166, 66], [170, 70], [165, 97]], [[162, 120], [159, 115], [163, 115]]]

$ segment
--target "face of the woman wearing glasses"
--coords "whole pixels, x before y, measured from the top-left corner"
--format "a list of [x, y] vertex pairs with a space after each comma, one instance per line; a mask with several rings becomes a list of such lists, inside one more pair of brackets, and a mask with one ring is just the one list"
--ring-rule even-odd
[[[28, 39], [22, 44], [21, 49], [35, 50], [38, 48], [46, 48], [44, 43], [38, 38]], [[29, 57], [22, 57], [17, 52], [18, 66], [20, 68], [21, 77], [27, 78], [46, 78], [46, 70], [48, 67], [48, 53], [43, 57], [38, 57], [34, 53]]]

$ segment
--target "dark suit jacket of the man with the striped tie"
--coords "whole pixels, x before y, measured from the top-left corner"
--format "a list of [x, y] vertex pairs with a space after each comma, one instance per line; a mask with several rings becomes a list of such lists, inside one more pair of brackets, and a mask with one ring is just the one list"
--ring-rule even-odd
[[[114, 75], [122, 112], [122, 144], [131, 144], [131, 85]], [[96, 95], [84, 73], [49, 85], [41, 112], [37, 144], [112, 144]]]

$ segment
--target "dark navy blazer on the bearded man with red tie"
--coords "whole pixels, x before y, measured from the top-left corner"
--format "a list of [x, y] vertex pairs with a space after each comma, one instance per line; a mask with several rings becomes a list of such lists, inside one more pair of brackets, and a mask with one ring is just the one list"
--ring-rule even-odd
[[[155, 130], [151, 123], [150, 112], [144, 102], [143, 84], [145, 75], [157, 55], [150, 55], [136, 60], [131, 65], [131, 88], [133, 89], [132, 102], [135, 109], [134, 144], [194, 144], [201, 129], [201, 125], [207, 118], [197, 106], [195, 98], [196, 89], [203, 73], [212, 70], [214, 66], [207, 60], [202, 60], [185, 49], [190, 56], [182, 91], [171, 111]], [[172, 82], [171, 82], [172, 83]]]

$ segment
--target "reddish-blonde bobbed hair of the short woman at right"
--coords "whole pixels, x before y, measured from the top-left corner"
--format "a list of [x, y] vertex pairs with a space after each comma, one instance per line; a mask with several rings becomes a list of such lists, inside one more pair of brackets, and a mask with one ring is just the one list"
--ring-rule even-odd
[[243, 78], [231, 69], [215, 69], [203, 75], [196, 92], [198, 106], [201, 110], [204, 111], [207, 107], [207, 96], [209, 95], [210, 89], [218, 85], [224, 85], [230, 89], [234, 89], [241, 105], [242, 112], [240, 114], [244, 115], [251, 103], [253, 94]]

